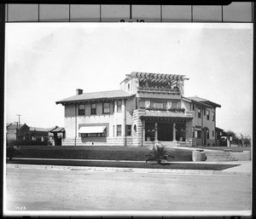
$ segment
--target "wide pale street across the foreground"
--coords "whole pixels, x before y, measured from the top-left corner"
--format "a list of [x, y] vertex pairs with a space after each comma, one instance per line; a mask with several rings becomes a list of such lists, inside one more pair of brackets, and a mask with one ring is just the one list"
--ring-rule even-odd
[[251, 210], [251, 178], [7, 169], [8, 210]]

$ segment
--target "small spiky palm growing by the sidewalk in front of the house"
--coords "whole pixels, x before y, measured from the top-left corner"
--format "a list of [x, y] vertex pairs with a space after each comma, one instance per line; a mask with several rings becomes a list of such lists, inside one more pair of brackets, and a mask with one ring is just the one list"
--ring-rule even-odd
[[166, 148], [164, 146], [159, 146], [158, 144], [155, 144], [150, 153], [146, 156], [148, 157], [146, 163], [148, 163], [149, 160], [155, 160], [157, 164], [161, 164], [163, 160], [168, 159]]

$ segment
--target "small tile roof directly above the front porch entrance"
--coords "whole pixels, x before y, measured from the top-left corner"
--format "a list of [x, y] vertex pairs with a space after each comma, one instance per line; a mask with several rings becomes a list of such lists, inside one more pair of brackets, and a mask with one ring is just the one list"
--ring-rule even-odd
[[186, 114], [185, 112], [171, 112], [171, 111], [154, 111], [154, 110], [145, 110], [145, 113], [142, 117], [148, 118], [193, 118], [193, 115]]

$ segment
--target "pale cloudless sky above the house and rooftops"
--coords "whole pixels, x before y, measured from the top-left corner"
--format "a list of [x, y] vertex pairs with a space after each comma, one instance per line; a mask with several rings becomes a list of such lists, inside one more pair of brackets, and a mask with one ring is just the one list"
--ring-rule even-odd
[[221, 105], [218, 128], [253, 133], [253, 24], [7, 23], [5, 37], [6, 123], [64, 127], [55, 101], [155, 72], [186, 75], [184, 96]]

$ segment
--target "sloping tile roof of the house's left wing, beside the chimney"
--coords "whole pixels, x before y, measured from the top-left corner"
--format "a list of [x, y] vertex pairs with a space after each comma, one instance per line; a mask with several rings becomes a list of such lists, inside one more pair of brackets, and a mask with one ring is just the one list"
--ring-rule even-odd
[[73, 95], [61, 101], [56, 101], [56, 104], [76, 102], [76, 101], [110, 100], [110, 99], [119, 99], [119, 98], [128, 99], [133, 95], [134, 94], [130, 94], [123, 89], [108, 90], [108, 91], [84, 93], [81, 95]]

